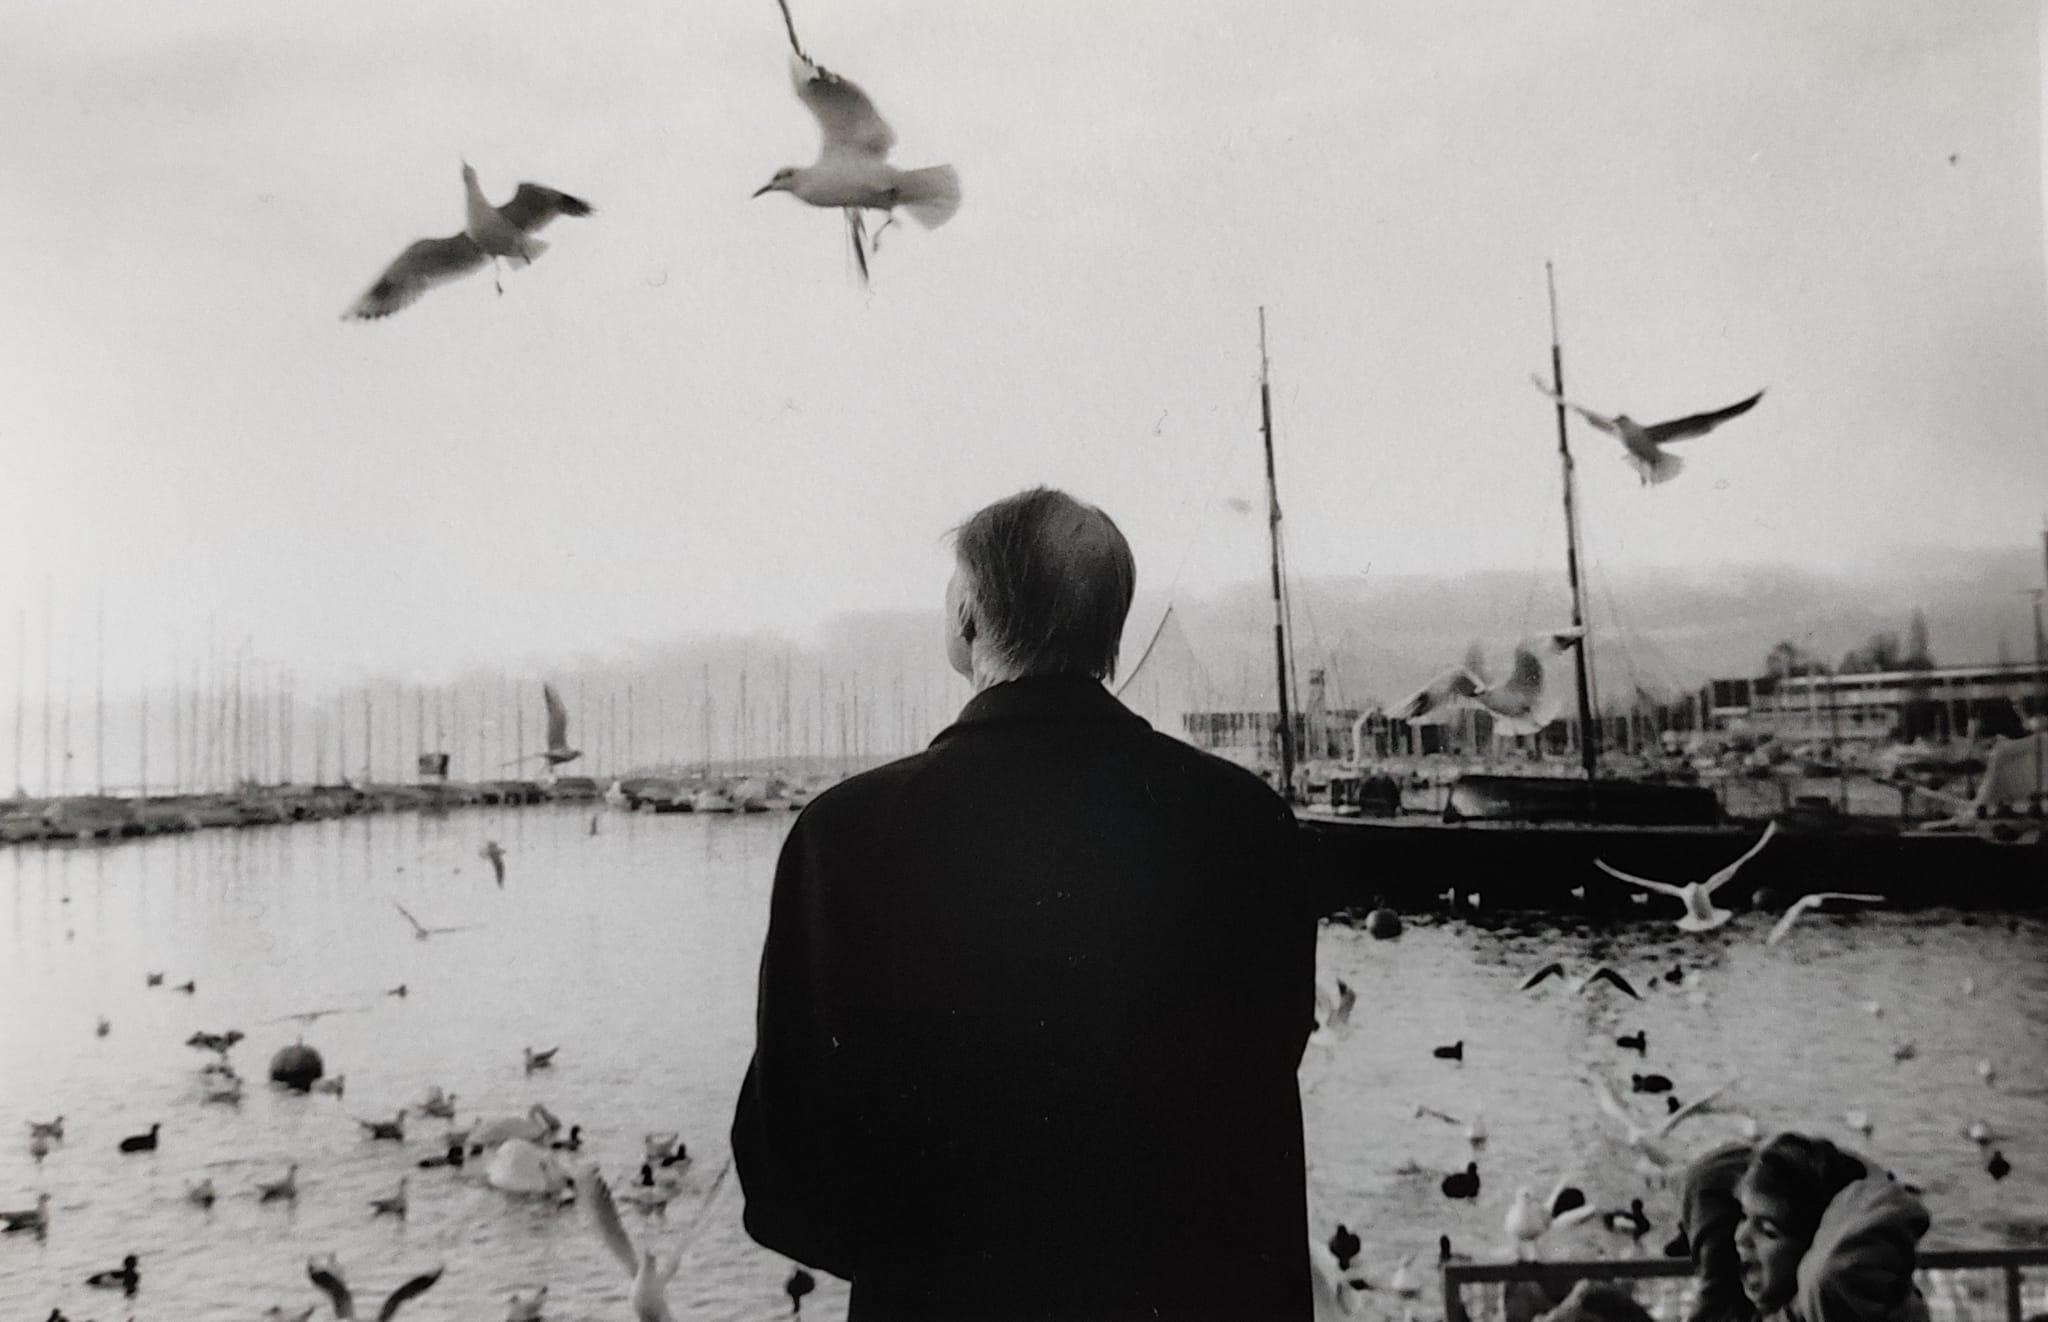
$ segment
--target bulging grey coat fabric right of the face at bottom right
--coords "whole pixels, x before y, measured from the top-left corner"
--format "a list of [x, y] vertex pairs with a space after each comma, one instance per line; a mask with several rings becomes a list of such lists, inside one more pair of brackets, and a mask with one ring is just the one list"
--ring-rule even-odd
[[1868, 1322], [1898, 1314], [1913, 1295], [1915, 1246], [1927, 1207], [1903, 1185], [1872, 1175], [1835, 1195], [1798, 1263], [1798, 1322]]

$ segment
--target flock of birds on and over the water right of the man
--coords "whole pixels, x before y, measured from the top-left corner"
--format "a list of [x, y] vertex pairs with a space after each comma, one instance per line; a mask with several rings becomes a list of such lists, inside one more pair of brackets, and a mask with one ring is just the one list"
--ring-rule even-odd
[[[1706, 931], [1716, 931], [1737, 917], [1733, 911], [1722, 909], [1714, 902], [1714, 892], [1726, 886], [1731, 880], [1735, 880], [1743, 864], [1753, 860], [1769, 845], [1774, 833], [1776, 833], [1776, 823], [1767, 827], [1763, 837], [1755, 845], [1751, 845], [1741, 857], [1716, 870], [1704, 882], [1686, 882], [1686, 884], [1657, 882], [1651, 878], [1626, 874], [1618, 868], [1612, 868], [1604, 860], [1595, 860], [1595, 866], [1608, 876], [1614, 876], [1616, 880], [1636, 886], [1632, 898], [1642, 907], [1655, 905], [1657, 896], [1677, 900], [1681, 911], [1673, 919], [1673, 927], [1686, 935], [1700, 935]], [[1577, 894], [1583, 896], [1583, 892]], [[1479, 909], [1483, 905], [1483, 894], [1479, 892], [1462, 894], [1458, 890], [1450, 890], [1444, 894], [1444, 898], [1452, 913], [1458, 913], [1460, 905], [1470, 909]], [[1767, 894], [1759, 894], [1757, 898], [1759, 905], [1769, 900]], [[1831, 902], [1880, 905], [1882, 900], [1884, 896], [1851, 894], [1851, 892], [1804, 894], [1784, 909], [1784, 913], [1772, 923], [1763, 941], [1765, 945], [1780, 945], [1792, 935], [1794, 927], [1804, 915], [1821, 909], [1823, 905]], [[1374, 909], [1366, 915], [1364, 927], [1372, 937], [1395, 939], [1401, 935], [1403, 925], [1399, 915], [1395, 915], [1391, 909]], [[1700, 970], [1688, 970], [1683, 962], [1673, 962], [1669, 968], [1655, 970], [1645, 980], [1645, 984], [1653, 993], [1657, 990], [1681, 993], [1694, 1007], [1704, 1007], [1708, 1003], [1708, 988], [1704, 986]], [[1563, 962], [1548, 962], [1532, 970], [1522, 980], [1520, 990], [1528, 995], [1542, 995], [1550, 986], [1556, 986], [1575, 999], [1624, 997], [1636, 1003], [1645, 999], [1645, 993], [1638, 990], [1638, 986], [1612, 964], [1595, 964], [1591, 968], [1571, 970]], [[1962, 978], [1958, 990], [1964, 997], [1974, 997], [1976, 980], [1968, 976]], [[1317, 1027], [1309, 1040], [1311, 1050], [1305, 1056], [1305, 1066], [1303, 1066], [1305, 1076], [1311, 1076], [1307, 1081], [1307, 1087], [1303, 1089], [1305, 1097], [1313, 1097], [1317, 1083], [1321, 1083], [1321, 1076], [1327, 1074], [1329, 1058], [1337, 1050], [1341, 1050], [1341, 1044], [1350, 1038], [1350, 1019], [1352, 1019], [1352, 1009], [1358, 1003], [1358, 993], [1352, 986], [1348, 986], [1341, 978], [1335, 978], [1331, 974], [1319, 974], [1315, 1003], [1317, 1003]], [[1862, 1009], [1866, 1015], [1872, 1017], [1884, 1015], [1884, 1005], [1878, 1001], [1864, 1001]], [[1647, 1062], [1651, 1054], [1649, 1031], [1640, 1027], [1636, 1031], [1618, 1033], [1614, 1038], [1614, 1046], [1618, 1052], [1634, 1052], [1638, 1062]], [[1896, 1040], [1892, 1044], [1890, 1054], [1892, 1062], [1907, 1062], [1919, 1054], [1919, 1048], [1911, 1040]], [[1464, 1040], [1436, 1046], [1432, 1048], [1432, 1056], [1462, 1066], [1466, 1058]], [[1989, 1058], [1980, 1058], [1976, 1062], [1976, 1078], [1987, 1089], [1997, 1087], [1999, 1072], [1995, 1062]], [[1630, 1070], [1628, 1074], [1630, 1097], [1663, 1099], [1663, 1111], [1651, 1117], [1645, 1117], [1642, 1113], [1634, 1111], [1630, 1103], [1624, 1101], [1616, 1085], [1610, 1083], [1599, 1072], [1589, 1070], [1587, 1074], [1583, 1074], [1583, 1083], [1587, 1085], [1587, 1091], [1591, 1093], [1591, 1099], [1602, 1111], [1602, 1115], [1614, 1121], [1614, 1132], [1620, 1138], [1622, 1146], [1634, 1154], [1632, 1175], [1638, 1177], [1647, 1189], [1667, 1189], [1669, 1183], [1679, 1173], [1683, 1173], [1690, 1156], [1677, 1146], [1675, 1138], [1679, 1128], [1688, 1119], [1706, 1113], [1724, 1113], [1735, 1119], [1737, 1130], [1741, 1132], [1743, 1138], [1755, 1140], [1761, 1134], [1755, 1115], [1751, 1115], [1749, 1111], [1741, 1109], [1735, 1101], [1731, 1101], [1731, 1093], [1741, 1083], [1739, 1078], [1726, 1078], [1718, 1087], [1712, 1087], [1710, 1091], [1692, 1097], [1690, 1101], [1681, 1101], [1675, 1095], [1677, 1085], [1669, 1074], [1661, 1074], [1655, 1070], [1642, 1070], [1642, 1072]], [[1475, 1109], [1470, 1115], [1458, 1117], [1436, 1107], [1417, 1105], [1413, 1111], [1413, 1119], [1434, 1119], [1464, 1130], [1464, 1138], [1470, 1144], [1473, 1158], [1464, 1164], [1462, 1171], [1444, 1173], [1442, 1179], [1438, 1181], [1438, 1189], [1446, 1199], [1452, 1201], [1477, 1201], [1483, 1187], [1479, 1156], [1483, 1154], [1489, 1136], [1483, 1109]], [[1870, 1113], [1862, 1107], [1851, 1107], [1843, 1111], [1841, 1123], [1860, 1134], [1862, 1138], [1872, 1138], [1876, 1132]], [[1999, 1134], [1995, 1134], [1991, 1126], [1987, 1126], [1982, 1119], [1970, 1119], [1960, 1130], [1960, 1138], [1978, 1148], [1985, 1175], [1989, 1175], [1991, 1181], [2003, 1181], [2007, 1175], [2013, 1173], [2011, 1160], [2007, 1160], [2005, 1152], [1997, 1146]], [[1432, 1171], [1425, 1171], [1413, 1160], [1403, 1162], [1403, 1166], [1397, 1173], [1415, 1177], [1434, 1175]], [[1913, 1185], [1909, 1183], [1909, 1187]], [[1364, 1271], [1364, 1252], [1366, 1252], [1364, 1236], [1358, 1232], [1358, 1228], [1354, 1228], [1354, 1224], [1343, 1220], [1333, 1222], [1327, 1211], [1317, 1209], [1315, 1203], [1319, 1201], [1321, 1201], [1319, 1197], [1311, 1195], [1309, 1254], [1315, 1267], [1317, 1318], [1329, 1320], [1329, 1318], [1360, 1316], [1368, 1312], [1364, 1304], [1364, 1293], [1376, 1291], [1380, 1293], [1382, 1299], [1380, 1310], [1386, 1308], [1397, 1310], [1405, 1322], [1415, 1322], [1415, 1312], [1411, 1308], [1411, 1302], [1421, 1297], [1425, 1281], [1423, 1275], [1415, 1269], [1413, 1254], [1399, 1259], [1393, 1265], [1393, 1271], [1386, 1273], [1378, 1283], [1368, 1279]], [[1616, 1236], [1624, 1236], [1630, 1248], [1636, 1252], [1642, 1250], [1645, 1236], [1649, 1236], [1651, 1230], [1655, 1230], [1651, 1216], [1645, 1211], [1642, 1197], [1630, 1197], [1624, 1207], [1622, 1205], [1602, 1207], [1599, 1203], [1591, 1201], [1581, 1187], [1573, 1183], [1573, 1177], [1559, 1179], [1544, 1195], [1538, 1195], [1534, 1185], [1518, 1185], [1513, 1201], [1509, 1203], [1501, 1224], [1505, 1232], [1503, 1240], [1505, 1246], [1499, 1254], [1495, 1254], [1495, 1261], [1507, 1261], [1507, 1259], [1532, 1261], [1540, 1257], [1538, 1248], [1552, 1230], [1565, 1230], [1593, 1220], [1602, 1222]], [[1360, 1218], [1360, 1228], [1362, 1226], [1364, 1218]], [[1673, 1226], [1673, 1230], [1677, 1228]], [[1692, 1246], [1686, 1242], [1683, 1232], [1677, 1232], [1673, 1238], [1663, 1242], [1661, 1250], [1667, 1257], [1677, 1257], [1677, 1259], [1692, 1254]], [[1470, 1261], [1475, 1261], [1475, 1257], [1454, 1248], [1448, 1234], [1438, 1236], [1440, 1267], [1448, 1263], [1470, 1263]], [[1386, 1299], [1386, 1295], [1393, 1295], [1393, 1299]], [[1567, 1312], [1569, 1304], [1559, 1304], [1556, 1318], [1563, 1320]]]

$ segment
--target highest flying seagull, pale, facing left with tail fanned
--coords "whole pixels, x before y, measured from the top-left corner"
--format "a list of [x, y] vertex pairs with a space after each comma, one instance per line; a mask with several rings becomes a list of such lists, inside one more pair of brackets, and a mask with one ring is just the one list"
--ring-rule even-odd
[[[821, 135], [817, 162], [776, 170], [774, 178], [754, 190], [754, 196], [793, 192], [811, 207], [844, 209], [846, 231], [860, 266], [860, 282], [866, 284], [862, 209], [887, 211], [889, 221], [883, 223], [883, 229], [895, 223], [897, 207], [926, 229], [936, 229], [961, 209], [961, 176], [952, 166], [897, 170], [889, 164], [895, 129], [874, 111], [866, 92], [831, 70], [811, 63], [807, 55], [791, 55], [788, 72], [797, 98], [817, 117]], [[874, 237], [881, 237], [881, 229], [874, 231]]]

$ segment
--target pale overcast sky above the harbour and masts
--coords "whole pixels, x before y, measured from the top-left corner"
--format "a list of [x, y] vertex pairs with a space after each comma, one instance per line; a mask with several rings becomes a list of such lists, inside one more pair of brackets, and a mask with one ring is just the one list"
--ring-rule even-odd
[[[1597, 563], [2038, 536], [2032, 0], [793, 8], [961, 172], [866, 293], [838, 215], [748, 199], [817, 145], [774, 0], [0, 0], [31, 692], [45, 585], [59, 655], [104, 591], [115, 686], [209, 620], [309, 684], [801, 634], [936, 604], [942, 532], [1038, 481], [1147, 589], [1255, 577], [1262, 303], [1296, 569], [1554, 577], [1546, 258], [1585, 403], [1769, 389], [1657, 489], [1575, 432]], [[465, 156], [598, 215], [342, 321]]]

